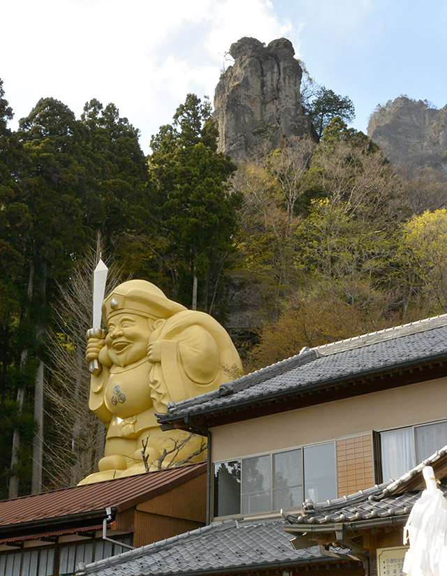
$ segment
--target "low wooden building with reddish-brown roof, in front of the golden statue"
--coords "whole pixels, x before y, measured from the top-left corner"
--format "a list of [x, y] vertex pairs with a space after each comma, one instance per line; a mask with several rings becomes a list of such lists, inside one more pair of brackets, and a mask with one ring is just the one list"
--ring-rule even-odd
[[0, 501], [0, 575], [73, 574], [205, 520], [205, 463]]

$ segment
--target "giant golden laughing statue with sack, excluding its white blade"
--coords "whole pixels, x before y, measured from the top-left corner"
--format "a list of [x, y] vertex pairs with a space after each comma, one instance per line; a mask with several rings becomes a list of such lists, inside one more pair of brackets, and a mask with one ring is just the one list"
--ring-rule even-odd
[[[139, 474], [148, 463], [158, 468], [203, 459], [202, 436], [162, 431], [154, 413], [242, 374], [226, 330], [145, 280], [112, 290], [102, 316], [108, 330], [87, 332], [86, 359], [92, 373], [89, 406], [108, 432], [99, 472], [80, 484]], [[101, 318], [95, 322], [100, 325]]]

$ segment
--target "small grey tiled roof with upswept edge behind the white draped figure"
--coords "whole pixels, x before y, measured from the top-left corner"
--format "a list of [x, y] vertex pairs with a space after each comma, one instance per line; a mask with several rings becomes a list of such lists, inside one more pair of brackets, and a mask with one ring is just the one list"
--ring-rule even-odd
[[[393, 519], [403, 523], [425, 485], [422, 475], [424, 466], [433, 466], [435, 474], [439, 470], [438, 476], [444, 478], [446, 464], [447, 445], [396, 480], [332, 501], [314, 503], [307, 500], [298, 515], [284, 513], [283, 517], [289, 524], [307, 526], [307, 530], [309, 524], [355, 523], [376, 519]], [[440, 488], [447, 494], [447, 480], [441, 482]]]

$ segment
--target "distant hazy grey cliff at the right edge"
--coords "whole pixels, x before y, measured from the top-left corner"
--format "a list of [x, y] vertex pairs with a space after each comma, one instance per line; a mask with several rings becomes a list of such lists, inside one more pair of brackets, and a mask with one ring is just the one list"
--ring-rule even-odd
[[447, 176], [447, 106], [435, 110], [400, 96], [372, 114], [368, 136], [393, 163], [430, 166]]

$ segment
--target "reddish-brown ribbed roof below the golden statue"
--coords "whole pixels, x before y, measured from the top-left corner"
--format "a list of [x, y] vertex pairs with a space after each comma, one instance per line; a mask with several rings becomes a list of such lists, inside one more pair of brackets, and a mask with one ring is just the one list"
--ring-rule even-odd
[[0, 501], [0, 537], [2, 528], [11, 524], [54, 517], [66, 517], [116, 506], [119, 511], [154, 498], [197, 475], [205, 473], [206, 462], [169, 468], [147, 474], [116, 478], [64, 488], [43, 494]]

